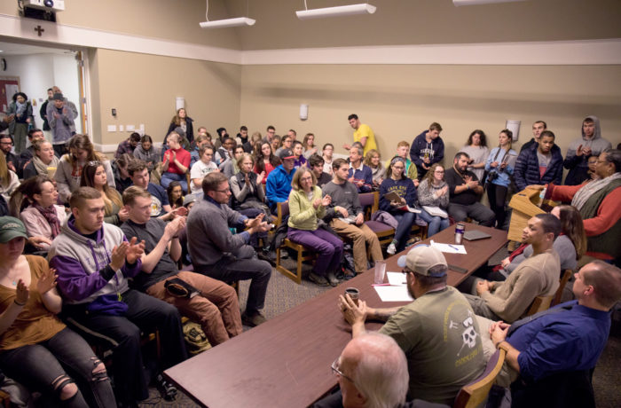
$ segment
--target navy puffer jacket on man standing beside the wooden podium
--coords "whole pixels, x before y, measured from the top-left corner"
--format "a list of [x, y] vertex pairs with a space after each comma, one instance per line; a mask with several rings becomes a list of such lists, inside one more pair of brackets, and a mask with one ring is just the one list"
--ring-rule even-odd
[[546, 173], [539, 177], [539, 161], [537, 158], [538, 144], [520, 152], [515, 162], [513, 177], [517, 191], [521, 192], [527, 185], [532, 184], [561, 184], [562, 182], [562, 154], [559, 146], [552, 147], [552, 160], [547, 166]]

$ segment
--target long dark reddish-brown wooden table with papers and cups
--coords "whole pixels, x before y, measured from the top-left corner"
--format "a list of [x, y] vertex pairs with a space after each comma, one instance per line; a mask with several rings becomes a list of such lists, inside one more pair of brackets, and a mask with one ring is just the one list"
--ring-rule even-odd
[[[445, 254], [448, 263], [468, 269], [487, 262], [507, 242], [507, 232], [467, 224], [491, 234], [491, 239], [464, 241], [468, 255]], [[452, 243], [454, 227], [432, 237]], [[423, 241], [428, 243], [429, 239]], [[387, 271], [401, 271], [397, 258]], [[448, 282], [457, 285], [468, 274], [449, 271]], [[360, 298], [372, 307], [394, 307], [407, 302], [381, 302], [372, 286], [373, 271], [358, 275], [308, 302], [272, 318], [261, 326], [201, 353], [165, 372], [169, 379], [209, 408], [303, 407], [312, 404], [336, 384], [330, 365], [351, 338], [350, 326], [337, 310], [346, 287], [358, 287]], [[377, 330], [379, 323], [369, 322]]]

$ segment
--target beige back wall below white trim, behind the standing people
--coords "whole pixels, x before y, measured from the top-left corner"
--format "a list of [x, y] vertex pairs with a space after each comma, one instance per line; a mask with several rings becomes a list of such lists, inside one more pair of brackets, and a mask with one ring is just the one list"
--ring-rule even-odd
[[[564, 154], [587, 114], [601, 118], [604, 137], [621, 142], [619, 66], [246, 66], [241, 78], [240, 122], [250, 131], [273, 124], [280, 135], [313, 132], [340, 152], [351, 140], [351, 113], [372, 127], [383, 157], [431, 122], [442, 124], [449, 158], [473, 129], [496, 145], [507, 119], [522, 121], [518, 147], [542, 119]], [[310, 105], [305, 122], [302, 103]]]

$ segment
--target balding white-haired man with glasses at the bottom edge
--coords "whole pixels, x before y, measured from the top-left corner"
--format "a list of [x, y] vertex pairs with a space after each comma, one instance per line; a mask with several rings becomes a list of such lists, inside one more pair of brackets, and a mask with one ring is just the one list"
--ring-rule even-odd
[[364, 333], [352, 339], [331, 368], [341, 390], [313, 408], [417, 406], [405, 404], [407, 360], [397, 342], [386, 334]]

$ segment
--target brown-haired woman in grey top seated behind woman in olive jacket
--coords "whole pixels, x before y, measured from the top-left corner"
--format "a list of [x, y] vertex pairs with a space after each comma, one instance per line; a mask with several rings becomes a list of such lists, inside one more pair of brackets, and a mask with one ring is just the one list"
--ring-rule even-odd
[[84, 165], [89, 161], [100, 161], [106, 170], [107, 184], [115, 188], [114, 173], [103, 153], [95, 151], [90, 138], [86, 135], [75, 135], [69, 140], [69, 153], [64, 154], [59, 161], [54, 179], [59, 189], [60, 200], [69, 202], [71, 193], [80, 187]]

